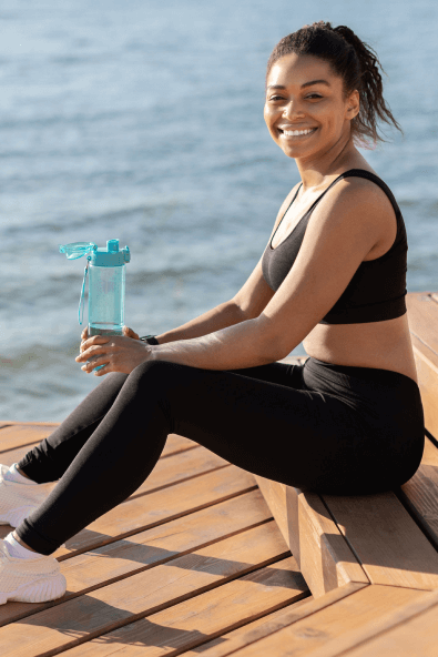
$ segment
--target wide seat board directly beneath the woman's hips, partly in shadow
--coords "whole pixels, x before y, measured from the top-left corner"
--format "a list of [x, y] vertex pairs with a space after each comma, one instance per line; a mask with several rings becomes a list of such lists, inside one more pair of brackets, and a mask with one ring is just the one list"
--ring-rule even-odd
[[371, 584], [438, 588], [438, 553], [394, 493], [323, 499]]

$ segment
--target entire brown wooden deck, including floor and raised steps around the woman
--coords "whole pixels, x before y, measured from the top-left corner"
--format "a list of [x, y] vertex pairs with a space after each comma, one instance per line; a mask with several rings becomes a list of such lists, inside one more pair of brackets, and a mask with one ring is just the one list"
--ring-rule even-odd
[[[1, 657], [438, 657], [438, 294], [408, 309], [427, 428], [410, 482], [304, 494], [172, 435], [57, 553], [67, 595], [0, 607]], [[0, 422], [0, 462], [53, 426]]]

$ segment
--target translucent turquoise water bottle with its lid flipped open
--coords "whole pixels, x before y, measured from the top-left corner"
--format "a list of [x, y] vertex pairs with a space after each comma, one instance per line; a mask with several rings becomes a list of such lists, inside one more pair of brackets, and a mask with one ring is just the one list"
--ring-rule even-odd
[[[83, 320], [86, 275], [89, 275], [89, 337], [92, 335], [123, 335], [125, 264], [131, 260], [128, 246], [119, 250], [119, 240], [109, 240], [105, 247], [93, 242], [60, 244], [60, 252], [69, 260], [86, 255], [79, 324]], [[99, 370], [99, 367], [95, 367]]]

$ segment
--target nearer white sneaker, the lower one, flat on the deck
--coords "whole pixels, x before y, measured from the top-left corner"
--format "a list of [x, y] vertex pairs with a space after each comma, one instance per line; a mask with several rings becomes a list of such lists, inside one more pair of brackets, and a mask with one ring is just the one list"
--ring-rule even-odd
[[53, 557], [18, 559], [9, 554], [9, 544], [0, 540], [0, 605], [47, 603], [64, 595], [65, 577]]

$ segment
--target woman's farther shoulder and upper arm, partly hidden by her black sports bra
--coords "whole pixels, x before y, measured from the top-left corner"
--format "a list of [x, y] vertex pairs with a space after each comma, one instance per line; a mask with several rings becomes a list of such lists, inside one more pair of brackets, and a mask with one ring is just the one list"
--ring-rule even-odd
[[[274, 228], [269, 236], [269, 242], [274, 235], [274, 232], [277, 229], [278, 223], [282, 220], [283, 214], [285, 213], [288, 204], [291, 203], [292, 196], [296, 192], [297, 186], [298, 185], [295, 185], [291, 193], [287, 194], [281, 209], [278, 210], [278, 214], [276, 216]], [[269, 301], [275, 294], [274, 290], [269, 287], [269, 285], [263, 277], [262, 260], [263, 254], [247, 281], [243, 284], [237, 294], [235, 294], [232, 299], [232, 301], [234, 301], [234, 303], [238, 305], [244, 315], [249, 320], [258, 317], [258, 315], [262, 313], [262, 311], [265, 309], [265, 306], [269, 303]]]

